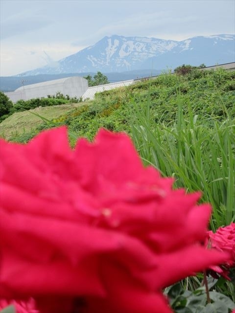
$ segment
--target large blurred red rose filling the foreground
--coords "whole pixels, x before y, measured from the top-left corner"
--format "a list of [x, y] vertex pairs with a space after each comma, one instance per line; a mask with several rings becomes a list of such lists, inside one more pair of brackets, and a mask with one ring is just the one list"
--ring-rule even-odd
[[2, 141], [0, 180], [1, 295], [41, 312], [170, 313], [164, 287], [227, 260], [199, 244], [211, 207], [144, 168], [126, 134]]

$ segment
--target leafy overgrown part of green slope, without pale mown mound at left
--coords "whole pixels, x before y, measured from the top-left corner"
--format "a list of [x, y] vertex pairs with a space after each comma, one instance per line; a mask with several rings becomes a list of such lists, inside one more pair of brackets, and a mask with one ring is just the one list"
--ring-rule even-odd
[[90, 106], [65, 116], [63, 122], [88, 139], [100, 127], [132, 135], [130, 125], [135, 122], [137, 109], [154, 129], [160, 124], [172, 125], [179, 103], [186, 118], [190, 113], [198, 115], [198, 120], [208, 125], [213, 119], [235, 117], [235, 72], [217, 70], [199, 77], [162, 75], [150, 82], [105, 91], [97, 94]]

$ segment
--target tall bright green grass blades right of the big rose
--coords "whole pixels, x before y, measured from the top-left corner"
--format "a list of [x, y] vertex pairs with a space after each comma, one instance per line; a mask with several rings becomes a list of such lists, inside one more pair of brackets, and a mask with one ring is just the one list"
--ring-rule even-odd
[[235, 119], [202, 124], [197, 115], [186, 118], [179, 97], [175, 120], [153, 127], [149, 101], [141, 109], [133, 105], [132, 137], [144, 163], [152, 164], [163, 176], [174, 177], [175, 187], [200, 190], [202, 201], [213, 207], [213, 231], [234, 222]]

